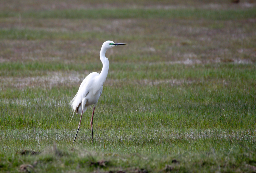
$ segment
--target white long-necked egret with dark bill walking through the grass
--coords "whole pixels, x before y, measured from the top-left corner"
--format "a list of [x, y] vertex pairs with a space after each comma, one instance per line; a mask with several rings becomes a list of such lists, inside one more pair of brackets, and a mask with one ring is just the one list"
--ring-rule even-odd
[[[95, 106], [97, 105], [98, 100], [101, 96], [103, 83], [106, 80], [106, 77], [108, 75], [108, 70], [109, 70], [109, 60], [105, 56], [106, 50], [118, 45], [126, 45], [126, 44], [114, 43], [113, 41], [105, 41], [103, 43], [100, 50], [100, 60], [103, 65], [100, 74], [97, 72], [92, 72], [88, 74], [88, 76], [84, 78], [83, 82], [81, 83], [77, 94], [74, 96], [74, 98], [69, 104], [73, 112], [76, 112], [76, 114], [81, 114], [77, 133], [81, 126], [82, 115], [86, 111], [87, 107], [90, 105], [93, 105], [93, 111], [92, 111], [92, 119], [93, 119]], [[91, 131], [92, 131], [92, 119], [91, 119]], [[73, 143], [76, 140], [77, 133]], [[92, 143], [93, 143], [93, 131], [92, 131]]]

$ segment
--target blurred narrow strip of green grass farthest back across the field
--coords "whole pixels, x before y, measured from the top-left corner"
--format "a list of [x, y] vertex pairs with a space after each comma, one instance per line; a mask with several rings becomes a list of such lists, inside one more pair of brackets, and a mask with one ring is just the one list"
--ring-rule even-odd
[[255, 9], [240, 10], [209, 10], [209, 9], [65, 9], [65, 10], [44, 10], [31, 12], [1, 12], [0, 17], [33, 17], [33, 18], [181, 18], [181, 19], [208, 19], [208, 20], [232, 20], [255, 18]]

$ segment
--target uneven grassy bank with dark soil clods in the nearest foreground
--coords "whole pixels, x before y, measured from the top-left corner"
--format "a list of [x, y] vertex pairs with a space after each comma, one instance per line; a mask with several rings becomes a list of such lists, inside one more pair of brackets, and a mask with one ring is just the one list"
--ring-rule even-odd
[[[57, 147], [65, 150], [65, 154], [44, 152], [38, 155], [19, 155], [2, 162], [1, 171], [109, 171], [109, 172], [162, 172], [162, 171], [253, 171], [255, 169], [255, 153], [246, 148], [231, 147], [228, 152], [217, 153], [212, 149], [208, 153], [170, 153], [158, 155], [111, 154], [93, 152], [83, 148]], [[7, 153], [5, 158], [11, 158]], [[22, 170], [21, 170], [22, 169]]]

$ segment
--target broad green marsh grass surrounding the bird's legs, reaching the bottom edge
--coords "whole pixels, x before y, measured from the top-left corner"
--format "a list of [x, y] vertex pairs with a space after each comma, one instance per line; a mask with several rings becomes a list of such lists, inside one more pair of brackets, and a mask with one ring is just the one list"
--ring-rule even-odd
[[[71, 145], [79, 116], [75, 115], [68, 124], [71, 114], [68, 103], [76, 87], [62, 84], [51, 88], [50, 92], [41, 87], [22, 91], [5, 88], [1, 92], [4, 99], [1, 99], [0, 109], [2, 148], [8, 152], [15, 151], [16, 159], [25, 159], [31, 164], [36, 161], [34, 169], [46, 171], [56, 171], [54, 165], [57, 163], [64, 164], [69, 170], [77, 169], [77, 165], [82, 164], [77, 171], [93, 171], [94, 166], [90, 163], [101, 160], [110, 164], [102, 166], [102, 170], [115, 170], [115, 165], [121, 164], [122, 169], [128, 172], [134, 171], [133, 167], [160, 171], [166, 164], [177, 171], [188, 170], [188, 165], [193, 166], [191, 170], [200, 168], [201, 171], [218, 170], [218, 165], [223, 171], [247, 170], [244, 164], [254, 165], [255, 159], [254, 152], [251, 153], [255, 150], [256, 133], [256, 93], [252, 82], [256, 78], [255, 66], [216, 65], [197, 65], [186, 70], [181, 69], [189, 67], [187, 65], [168, 65], [174, 73], [175, 69], [181, 72], [180, 77], [175, 79], [194, 80], [174, 85], [171, 82], [153, 86], [150, 83], [136, 84], [144, 79], [141, 77], [106, 85], [96, 108], [93, 145], [88, 124], [91, 109], [85, 113], [75, 145]], [[129, 66], [128, 70], [136, 71], [129, 69]], [[243, 78], [244, 74], [249, 74], [248, 78]], [[149, 76], [154, 83], [154, 77]], [[231, 80], [223, 82], [228, 78]], [[240, 81], [241, 78], [243, 81]], [[118, 78], [110, 75], [110, 79]], [[46, 148], [54, 141], [58, 146], [56, 150], [63, 153], [61, 156], [52, 154], [48, 151], [51, 149]], [[41, 153], [38, 156], [23, 156], [19, 154], [23, 149]], [[83, 157], [77, 158], [81, 153], [84, 153]], [[87, 158], [88, 155], [91, 158]], [[192, 161], [190, 164], [187, 157]], [[143, 164], [140, 163], [142, 158], [145, 160]], [[173, 159], [179, 164], [173, 164]], [[120, 160], [127, 160], [128, 163]], [[22, 164], [20, 161], [9, 162], [11, 166], [4, 162], [2, 170]], [[234, 164], [236, 166], [232, 166]]]

